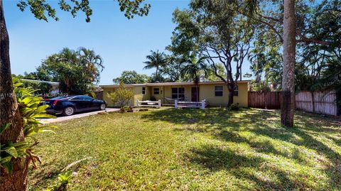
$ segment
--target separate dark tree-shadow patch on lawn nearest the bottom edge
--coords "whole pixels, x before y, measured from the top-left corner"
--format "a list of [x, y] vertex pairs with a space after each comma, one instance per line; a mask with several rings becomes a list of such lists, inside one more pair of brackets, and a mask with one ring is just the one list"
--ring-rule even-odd
[[[274, 168], [271, 164], [268, 165], [264, 158], [239, 155], [228, 148], [202, 146], [193, 149], [187, 157], [190, 158], [190, 162], [200, 164], [212, 172], [226, 170], [239, 180], [248, 182], [251, 180], [255, 190], [298, 190], [302, 185], [306, 186], [305, 182], [292, 181], [287, 173]], [[255, 170], [249, 170], [250, 168]], [[264, 174], [268, 170], [271, 170], [271, 180], [256, 175]], [[247, 190], [249, 187], [239, 185], [239, 189]]]

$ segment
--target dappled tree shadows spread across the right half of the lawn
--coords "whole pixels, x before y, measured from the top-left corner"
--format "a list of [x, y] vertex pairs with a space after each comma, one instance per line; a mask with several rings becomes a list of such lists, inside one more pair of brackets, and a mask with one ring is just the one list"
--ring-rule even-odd
[[[341, 157], [340, 154], [320, 141], [314, 134], [341, 133], [341, 127], [335, 119], [316, 116], [302, 112], [296, 112], [295, 128], [284, 128], [279, 125], [278, 111], [261, 111], [256, 109], [242, 109], [242, 111], [227, 111], [225, 109], [166, 109], [144, 114], [142, 119], [151, 121], [167, 121], [172, 124], [193, 124], [175, 129], [175, 131], [190, 131], [191, 133], [209, 133], [214, 138], [233, 143], [247, 143], [254, 153], [265, 153], [298, 161], [301, 165], [308, 165], [308, 158], [301, 156], [301, 146], [325, 156], [328, 161], [325, 165], [325, 175], [328, 176], [328, 187], [341, 189]], [[328, 121], [329, 120], [329, 121]], [[248, 132], [254, 136], [266, 138], [256, 139], [241, 136], [240, 132]], [[338, 146], [340, 140], [332, 136], [323, 136]], [[269, 140], [277, 140], [280, 143], [292, 144], [291, 153], [275, 148]], [[340, 149], [340, 148], [338, 148]], [[302, 153], [306, 155], [306, 153]], [[313, 189], [307, 182], [290, 180], [286, 172], [279, 170], [276, 165], [271, 165], [271, 173], [276, 175], [276, 182], [259, 180], [254, 173], [243, 171], [241, 168], [254, 168], [262, 172], [261, 166], [266, 160], [253, 156], [239, 155], [228, 149], [202, 146], [193, 148], [186, 156], [192, 163], [198, 163], [212, 171], [225, 169], [236, 178], [247, 179], [254, 182], [257, 187], [270, 190]]]

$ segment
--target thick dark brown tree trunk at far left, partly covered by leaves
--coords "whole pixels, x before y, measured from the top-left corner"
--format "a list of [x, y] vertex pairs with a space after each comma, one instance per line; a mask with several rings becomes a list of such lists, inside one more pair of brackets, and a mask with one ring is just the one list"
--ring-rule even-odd
[[[0, 126], [11, 122], [12, 125], [0, 135], [0, 142], [23, 141], [22, 119], [16, 97], [13, 95], [11, 65], [9, 62], [9, 33], [7, 33], [4, 9], [0, 0]], [[24, 159], [13, 159], [13, 174], [0, 168], [0, 190], [27, 190], [26, 175], [28, 166]]]

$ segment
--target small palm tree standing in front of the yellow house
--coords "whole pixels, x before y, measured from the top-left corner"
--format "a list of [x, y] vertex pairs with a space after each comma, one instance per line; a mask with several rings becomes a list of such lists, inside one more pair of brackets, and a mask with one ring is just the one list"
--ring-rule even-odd
[[195, 56], [190, 56], [190, 58], [186, 59], [183, 63], [186, 65], [180, 71], [181, 77], [189, 77], [195, 83], [196, 91], [197, 91], [197, 101], [199, 100], [198, 93], [198, 85], [200, 82], [200, 76], [202, 72], [206, 76], [208, 73], [207, 65], [205, 64], [206, 58], [195, 58]]

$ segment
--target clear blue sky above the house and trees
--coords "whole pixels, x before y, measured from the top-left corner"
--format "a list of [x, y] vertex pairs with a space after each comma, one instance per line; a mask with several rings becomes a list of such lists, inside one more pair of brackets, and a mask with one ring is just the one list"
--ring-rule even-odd
[[[4, 13], [10, 38], [11, 70], [19, 75], [34, 72], [48, 55], [63, 48], [90, 48], [101, 55], [104, 70], [99, 84], [112, 84], [124, 70], [151, 75], [154, 70], [143, 70], [150, 50], [165, 51], [171, 43], [175, 24], [172, 13], [185, 9], [189, 1], [153, 0], [148, 16], [127, 19], [119, 11], [117, 1], [90, 1], [91, 22], [85, 22], [84, 13], [72, 18], [70, 13], [58, 10], [58, 1], [48, 1], [57, 11], [60, 21], [39, 21], [29, 10], [21, 12], [16, 0], [4, 0]], [[249, 62], [244, 64], [244, 73]]]

